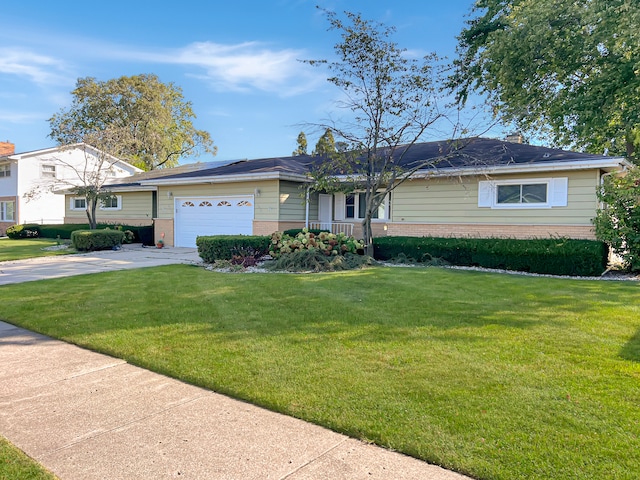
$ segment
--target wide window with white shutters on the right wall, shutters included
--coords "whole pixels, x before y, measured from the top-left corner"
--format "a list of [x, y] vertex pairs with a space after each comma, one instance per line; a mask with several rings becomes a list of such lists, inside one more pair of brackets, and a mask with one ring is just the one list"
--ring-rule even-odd
[[482, 181], [478, 183], [478, 206], [489, 208], [566, 207], [569, 180], [537, 178]]

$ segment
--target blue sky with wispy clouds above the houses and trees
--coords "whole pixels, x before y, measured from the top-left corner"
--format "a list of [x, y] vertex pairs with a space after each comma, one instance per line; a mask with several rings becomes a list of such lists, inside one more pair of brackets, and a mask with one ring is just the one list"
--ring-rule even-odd
[[290, 155], [303, 129], [311, 150], [318, 134], [303, 125], [332, 116], [340, 93], [325, 70], [299, 61], [331, 59], [339, 41], [316, 5], [395, 26], [393, 40], [414, 55], [436, 52], [451, 59], [472, 3], [5, 2], [0, 140], [14, 143], [16, 152], [52, 147], [47, 120], [69, 107], [78, 78], [153, 73], [180, 87], [193, 104], [196, 128], [208, 131], [218, 147], [215, 159]]

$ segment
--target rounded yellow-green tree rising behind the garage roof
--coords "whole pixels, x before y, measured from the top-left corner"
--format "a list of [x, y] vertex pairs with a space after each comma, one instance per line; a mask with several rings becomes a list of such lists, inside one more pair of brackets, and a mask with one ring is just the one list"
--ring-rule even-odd
[[49, 119], [49, 136], [60, 145], [90, 143], [91, 136], [109, 131], [119, 141], [108, 142], [107, 153], [143, 170], [175, 166], [201, 151], [216, 153], [210, 135], [193, 126], [195, 114], [182, 90], [156, 75], [80, 78], [71, 94], [71, 107]]

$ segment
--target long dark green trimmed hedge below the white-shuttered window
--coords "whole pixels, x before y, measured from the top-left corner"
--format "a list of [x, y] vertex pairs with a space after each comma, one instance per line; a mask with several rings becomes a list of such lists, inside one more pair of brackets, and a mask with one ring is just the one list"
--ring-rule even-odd
[[607, 268], [609, 248], [595, 240], [541, 238], [379, 237], [374, 257], [406, 256], [416, 262], [434, 258], [453, 265], [498, 268], [550, 275], [597, 276]]

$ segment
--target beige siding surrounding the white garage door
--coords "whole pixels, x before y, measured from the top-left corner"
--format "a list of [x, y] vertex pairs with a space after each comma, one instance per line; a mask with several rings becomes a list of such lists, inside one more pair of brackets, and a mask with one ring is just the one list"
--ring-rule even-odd
[[176, 198], [233, 195], [254, 197], [256, 220], [278, 220], [280, 198], [277, 180], [158, 187], [158, 217], [174, 217]]

